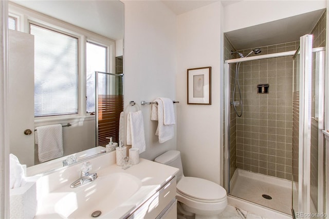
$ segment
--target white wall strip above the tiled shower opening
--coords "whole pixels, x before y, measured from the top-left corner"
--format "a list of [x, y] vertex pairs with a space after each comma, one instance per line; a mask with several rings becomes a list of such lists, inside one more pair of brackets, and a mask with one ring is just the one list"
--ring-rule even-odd
[[241, 1], [224, 9], [224, 32], [326, 8], [325, 0]]

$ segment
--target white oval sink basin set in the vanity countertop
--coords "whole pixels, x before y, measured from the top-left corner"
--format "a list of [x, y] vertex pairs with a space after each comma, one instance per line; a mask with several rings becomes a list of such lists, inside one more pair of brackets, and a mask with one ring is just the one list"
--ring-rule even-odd
[[67, 186], [53, 191], [52, 195], [60, 197], [53, 208], [65, 218], [92, 218], [95, 211], [101, 211], [101, 217], [134, 195], [141, 185], [140, 179], [127, 173], [99, 175], [77, 188]]

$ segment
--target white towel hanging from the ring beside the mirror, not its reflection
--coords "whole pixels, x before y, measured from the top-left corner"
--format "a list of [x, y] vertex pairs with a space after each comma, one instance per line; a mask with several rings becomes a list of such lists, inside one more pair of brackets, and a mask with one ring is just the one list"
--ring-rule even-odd
[[139, 153], [146, 149], [144, 122], [141, 111], [129, 112], [127, 115], [127, 145], [138, 148]]

